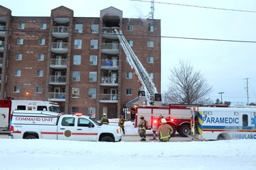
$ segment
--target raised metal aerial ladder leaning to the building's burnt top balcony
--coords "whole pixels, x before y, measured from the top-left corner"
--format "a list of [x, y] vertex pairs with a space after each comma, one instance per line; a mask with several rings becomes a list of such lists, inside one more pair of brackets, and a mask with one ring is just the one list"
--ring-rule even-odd
[[130, 64], [130, 67], [132, 67], [132, 71], [141, 86], [139, 90], [139, 97], [145, 97], [147, 105], [156, 105], [156, 103], [159, 105], [162, 97], [157, 92], [156, 86], [150, 78], [149, 73], [147, 73], [147, 70], [143, 67], [139, 58], [134, 54], [122, 31], [115, 29], [115, 33], [117, 34], [120, 44], [126, 53], [127, 61]]

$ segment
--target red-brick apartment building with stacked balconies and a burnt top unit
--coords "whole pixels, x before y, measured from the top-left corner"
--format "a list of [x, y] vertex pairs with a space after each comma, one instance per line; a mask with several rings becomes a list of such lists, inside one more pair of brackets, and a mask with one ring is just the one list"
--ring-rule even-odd
[[160, 92], [160, 20], [123, 18], [115, 7], [95, 18], [74, 17], [64, 6], [49, 17], [12, 16], [0, 5], [0, 99], [53, 101], [68, 114], [118, 118], [140, 86], [114, 29]]

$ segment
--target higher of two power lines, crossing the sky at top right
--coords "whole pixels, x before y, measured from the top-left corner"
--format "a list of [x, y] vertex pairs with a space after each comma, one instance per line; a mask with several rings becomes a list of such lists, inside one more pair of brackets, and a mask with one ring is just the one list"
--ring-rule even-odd
[[[130, 0], [130, 1], [140, 1], [140, 2], [150, 2], [151, 1], [142, 1], [142, 0]], [[221, 8], [221, 7], [205, 7], [205, 6], [198, 6], [198, 5], [186, 5], [186, 4], [180, 4], [180, 3], [167, 3], [167, 2], [154, 2], [154, 3], [160, 3], [160, 4], [167, 4], [167, 5], [180, 5], [180, 6], [186, 6], [186, 7], [201, 7], [206, 9], [212, 9], [212, 10], [226, 10], [226, 11], [234, 11], [234, 12], [253, 12], [256, 11], [249, 11], [249, 10], [233, 10], [228, 8]]]

